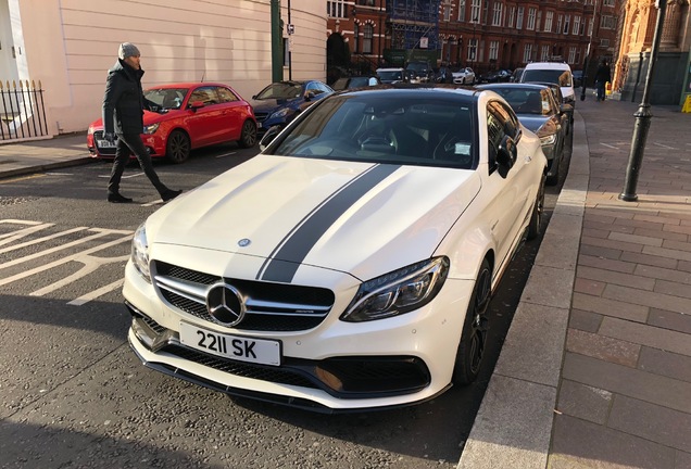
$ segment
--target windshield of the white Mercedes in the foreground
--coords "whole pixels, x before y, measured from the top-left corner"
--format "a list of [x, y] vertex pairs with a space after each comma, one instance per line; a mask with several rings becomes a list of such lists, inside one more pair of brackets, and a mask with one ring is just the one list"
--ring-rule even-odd
[[265, 153], [470, 169], [477, 137], [468, 104], [448, 97], [329, 97]]

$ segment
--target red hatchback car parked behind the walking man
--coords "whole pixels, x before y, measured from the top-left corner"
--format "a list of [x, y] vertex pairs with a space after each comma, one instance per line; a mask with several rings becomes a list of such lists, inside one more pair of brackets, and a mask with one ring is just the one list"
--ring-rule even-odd
[[[191, 150], [227, 141], [242, 148], [256, 143], [252, 105], [227, 85], [184, 83], [145, 90], [155, 112], [145, 111], [141, 139], [152, 157], [183, 163]], [[91, 156], [114, 159], [117, 143], [103, 140], [103, 122], [89, 126], [87, 147]]]

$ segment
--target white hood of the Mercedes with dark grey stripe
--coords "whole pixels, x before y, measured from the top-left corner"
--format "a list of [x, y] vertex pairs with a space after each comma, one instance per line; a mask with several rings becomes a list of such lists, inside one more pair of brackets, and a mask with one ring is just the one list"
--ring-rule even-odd
[[147, 234], [261, 257], [267, 270], [368, 279], [429, 258], [479, 189], [473, 170], [259, 155], [154, 213]]

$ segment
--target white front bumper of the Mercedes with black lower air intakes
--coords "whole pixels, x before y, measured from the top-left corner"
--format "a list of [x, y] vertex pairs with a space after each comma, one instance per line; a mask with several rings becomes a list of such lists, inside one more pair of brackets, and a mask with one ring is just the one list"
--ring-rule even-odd
[[472, 288], [472, 281], [448, 279], [425, 307], [377, 321], [339, 320], [351, 295], [337, 297], [331, 314], [309, 330], [231, 331], [280, 341], [279, 366], [180, 344], [180, 320], [229, 331], [167, 303], [129, 264], [124, 294], [133, 315], [129, 343], [146, 366], [228, 394], [343, 413], [417, 404], [449, 389]]

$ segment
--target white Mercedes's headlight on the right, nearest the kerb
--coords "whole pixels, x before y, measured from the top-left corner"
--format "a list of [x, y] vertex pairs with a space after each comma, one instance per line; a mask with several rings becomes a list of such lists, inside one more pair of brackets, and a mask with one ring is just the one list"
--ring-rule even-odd
[[398, 316], [435, 299], [449, 274], [449, 258], [435, 257], [360, 286], [341, 320], [361, 322]]

